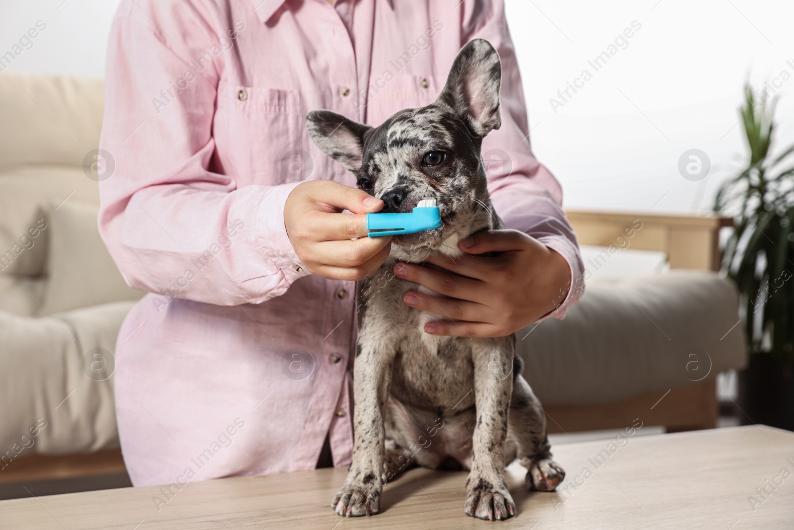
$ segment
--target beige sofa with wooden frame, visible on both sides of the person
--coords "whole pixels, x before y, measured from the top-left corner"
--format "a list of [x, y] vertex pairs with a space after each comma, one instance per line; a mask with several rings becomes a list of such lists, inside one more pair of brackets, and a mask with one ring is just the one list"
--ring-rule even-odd
[[[87, 155], [101, 122], [100, 81], [0, 75], [0, 451], [8, 461], [118, 447], [112, 352], [141, 293], [121, 280], [96, 228]], [[713, 427], [715, 375], [746, 362], [742, 326], [734, 326], [737, 293], [707, 272], [725, 222], [586, 212], [569, 219], [582, 242], [603, 246], [641, 219], [634, 248], [700, 271], [593, 281], [565, 320], [519, 333], [549, 429], [625, 427], [638, 416], [669, 430]], [[694, 365], [692, 354], [700, 356]], [[33, 436], [37, 422], [46, 425]], [[0, 467], [11, 470], [6, 460]]]

